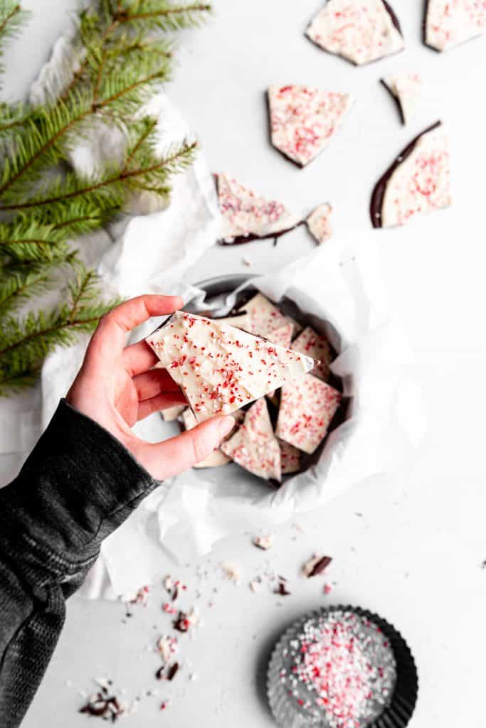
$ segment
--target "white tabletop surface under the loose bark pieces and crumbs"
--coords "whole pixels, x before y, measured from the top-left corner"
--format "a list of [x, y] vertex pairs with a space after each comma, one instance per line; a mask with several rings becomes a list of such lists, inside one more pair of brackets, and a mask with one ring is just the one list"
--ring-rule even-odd
[[[30, 0], [34, 16], [24, 42], [7, 54], [4, 95], [22, 95], [66, 25], [74, 0]], [[184, 34], [171, 98], [200, 133], [213, 170], [225, 170], [279, 197], [296, 210], [320, 202], [335, 207], [340, 245], [369, 229], [367, 205], [377, 176], [412, 136], [437, 118], [450, 130], [454, 205], [407, 228], [377, 231], [383, 272], [396, 316], [415, 349], [418, 376], [429, 411], [429, 431], [417, 458], [401, 478], [353, 488], [323, 513], [278, 529], [273, 551], [251, 547], [235, 534], [201, 561], [203, 625], [195, 641], [181, 636], [184, 670], [172, 684], [145, 697], [125, 724], [235, 728], [272, 726], [264, 702], [264, 670], [281, 629], [318, 604], [367, 606], [394, 622], [415, 653], [420, 698], [411, 728], [482, 724], [486, 608], [486, 465], [484, 416], [486, 347], [485, 280], [485, 91], [486, 39], [447, 55], [420, 44], [422, 3], [394, 0], [407, 50], [365, 68], [326, 55], [303, 36], [317, 0], [216, 0], [200, 31]], [[412, 6], [412, 7], [411, 7]], [[28, 48], [28, 53], [26, 52]], [[391, 71], [420, 71], [424, 99], [417, 119], [401, 127], [396, 109], [377, 80]], [[349, 90], [356, 105], [339, 137], [310, 167], [297, 170], [267, 141], [264, 89], [272, 83], [305, 82]], [[364, 242], [366, 244], [366, 242]], [[271, 242], [213, 250], [190, 272], [192, 280], [243, 272], [243, 255], [258, 272], [310, 250], [302, 229], [278, 248]], [[8, 468], [7, 468], [8, 470]], [[7, 472], [5, 470], [5, 472]], [[356, 515], [362, 513], [362, 515]], [[330, 596], [321, 582], [298, 577], [313, 550], [334, 557]], [[270, 558], [291, 580], [292, 595], [254, 594], [248, 579]], [[222, 582], [221, 561], [240, 564], [239, 587]], [[197, 564], [171, 570], [197, 586]], [[161, 561], [161, 576], [168, 570]], [[212, 593], [213, 587], [218, 593]], [[213, 599], [214, 606], [208, 601]], [[147, 651], [168, 626], [162, 592], [122, 624], [121, 604], [72, 599], [66, 628], [24, 725], [81, 727], [78, 689], [109, 675], [128, 697], [156, 685], [157, 657]], [[187, 661], [192, 663], [192, 668]], [[193, 669], [196, 681], [188, 681]], [[66, 685], [69, 681], [69, 685]], [[163, 697], [172, 697], [160, 713]]]

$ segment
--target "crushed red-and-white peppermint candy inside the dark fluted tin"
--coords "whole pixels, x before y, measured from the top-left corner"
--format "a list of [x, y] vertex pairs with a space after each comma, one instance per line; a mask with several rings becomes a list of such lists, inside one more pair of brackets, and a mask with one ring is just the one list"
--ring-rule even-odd
[[313, 719], [329, 728], [364, 728], [383, 712], [396, 683], [396, 661], [380, 626], [337, 609], [311, 617], [283, 650], [281, 683]]

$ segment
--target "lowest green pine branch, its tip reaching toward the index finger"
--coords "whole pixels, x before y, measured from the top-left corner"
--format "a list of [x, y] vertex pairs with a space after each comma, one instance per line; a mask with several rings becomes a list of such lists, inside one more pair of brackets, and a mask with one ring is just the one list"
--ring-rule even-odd
[[0, 322], [0, 395], [30, 386], [44, 357], [55, 347], [74, 344], [79, 333], [91, 333], [101, 316], [119, 301], [99, 301], [100, 282], [92, 271], [79, 269], [68, 289], [68, 301], [48, 312]]

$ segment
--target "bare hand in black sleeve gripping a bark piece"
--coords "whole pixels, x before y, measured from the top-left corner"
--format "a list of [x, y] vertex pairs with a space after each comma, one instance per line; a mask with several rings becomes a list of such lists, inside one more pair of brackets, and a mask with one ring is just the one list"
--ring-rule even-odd
[[182, 305], [179, 296], [138, 296], [103, 316], [67, 395], [68, 403], [111, 432], [157, 480], [204, 460], [234, 425], [230, 416], [213, 417], [155, 444], [130, 429], [152, 412], [187, 404], [168, 372], [152, 368], [158, 359], [145, 341], [125, 347], [130, 329]]

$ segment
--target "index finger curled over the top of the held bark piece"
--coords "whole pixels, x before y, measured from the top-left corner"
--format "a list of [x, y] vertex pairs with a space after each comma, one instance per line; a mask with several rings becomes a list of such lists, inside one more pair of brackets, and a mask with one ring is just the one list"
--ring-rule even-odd
[[113, 361], [125, 347], [128, 331], [151, 316], [171, 314], [183, 305], [180, 296], [137, 296], [120, 304], [103, 316], [88, 347], [90, 359], [95, 363]]

